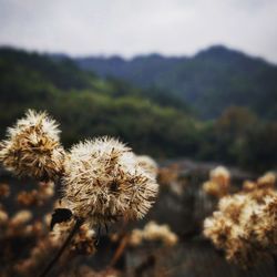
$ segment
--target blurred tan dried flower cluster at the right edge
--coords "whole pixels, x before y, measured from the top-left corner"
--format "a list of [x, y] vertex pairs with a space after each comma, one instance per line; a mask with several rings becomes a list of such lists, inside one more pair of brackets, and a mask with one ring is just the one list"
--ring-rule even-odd
[[277, 253], [277, 193], [268, 185], [249, 187], [223, 197], [219, 211], [204, 222], [204, 235], [244, 268]]

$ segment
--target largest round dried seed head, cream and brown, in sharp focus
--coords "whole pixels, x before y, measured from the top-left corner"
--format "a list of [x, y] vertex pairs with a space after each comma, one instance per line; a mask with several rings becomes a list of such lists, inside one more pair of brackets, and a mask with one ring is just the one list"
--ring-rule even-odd
[[68, 207], [91, 224], [142, 218], [157, 194], [156, 181], [117, 140], [100, 137], [73, 146], [64, 166]]

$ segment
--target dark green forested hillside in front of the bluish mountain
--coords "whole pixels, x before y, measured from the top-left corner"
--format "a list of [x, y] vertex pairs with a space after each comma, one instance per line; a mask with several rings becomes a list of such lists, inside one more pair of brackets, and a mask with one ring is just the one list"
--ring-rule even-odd
[[29, 109], [47, 110], [70, 145], [95, 135], [113, 135], [135, 152], [155, 157], [192, 157], [269, 170], [277, 155], [277, 124], [250, 110], [230, 107], [202, 122], [184, 101], [164, 91], [103, 80], [70, 59], [0, 50], [0, 135]]

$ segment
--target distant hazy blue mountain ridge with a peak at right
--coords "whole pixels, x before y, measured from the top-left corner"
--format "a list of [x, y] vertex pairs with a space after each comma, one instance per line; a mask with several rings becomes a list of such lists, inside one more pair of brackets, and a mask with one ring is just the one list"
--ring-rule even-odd
[[223, 45], [192, 58], [89, 57], [75, 62], [100, 76], [166, 91], [192, 105], [203, 119], [218, 117], [232, 105], [248, 107], [265, 119], [277, 119], [277, 66]]

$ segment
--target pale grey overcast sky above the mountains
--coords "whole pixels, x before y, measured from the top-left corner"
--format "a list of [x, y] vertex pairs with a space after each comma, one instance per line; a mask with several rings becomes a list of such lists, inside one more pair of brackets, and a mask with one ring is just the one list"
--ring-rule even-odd
[[225, 44], [277, 63], [277, 0], [0, 0], [0, 44], [126, 58]]

